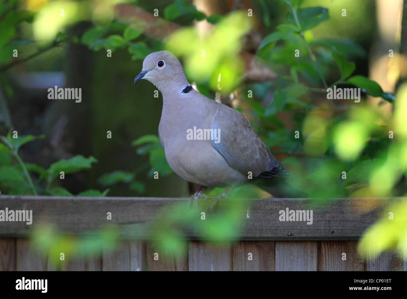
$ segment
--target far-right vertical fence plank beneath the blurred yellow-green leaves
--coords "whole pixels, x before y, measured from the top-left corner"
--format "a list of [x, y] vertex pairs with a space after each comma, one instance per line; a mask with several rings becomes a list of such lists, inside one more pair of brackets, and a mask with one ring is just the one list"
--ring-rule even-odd
[[403, 271], [403, 253], [383, 251], [376, 258], [366, 261], [366, 271]]

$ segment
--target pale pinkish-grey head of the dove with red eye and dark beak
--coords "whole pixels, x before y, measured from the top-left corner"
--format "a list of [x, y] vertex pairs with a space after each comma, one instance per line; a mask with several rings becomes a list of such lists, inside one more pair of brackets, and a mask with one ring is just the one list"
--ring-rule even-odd
[[182, 91], [190, 85], [186, 80], [181, 63], [170, 51], [153, 52], [143, 61], [143, 69], [134, 78], [134, 83], [146, 79], [160, 89], [160, 92]]

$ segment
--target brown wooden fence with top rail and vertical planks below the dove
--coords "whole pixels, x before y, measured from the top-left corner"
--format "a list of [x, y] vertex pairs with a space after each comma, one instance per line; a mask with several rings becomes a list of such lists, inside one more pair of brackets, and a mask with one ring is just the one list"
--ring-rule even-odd
[[[405, 199], [325, 199], [318, 207], [312, 199], [247, 201], [249, 214], [241, 215], [236, 231], [239, 241], [215, 245], [190, 229], [185, 232], [187, 256], [159, 254], [156, 260], [149, 223], [162, 207], [186, 203], [186, 199], [2, 195], [0, 210], [32, 210], [33, 224], [0, 222], [0, 270], [406, 271], [407, 262], [400, 253], [385, 251], [367, 261], [357, 253], [357, 240], [395, 200]], [[280, 221], [279, 211], [287, 208], [313, 210], [312, 225]], [[106, 220], [109, 211], [112, 220]], [[120, 246], [98, 257], [55, 262], [35, 251], [28, 239], [35, 225], [44, 221], [70, 235], [94, 231], [109, 221], [118, 227]]]

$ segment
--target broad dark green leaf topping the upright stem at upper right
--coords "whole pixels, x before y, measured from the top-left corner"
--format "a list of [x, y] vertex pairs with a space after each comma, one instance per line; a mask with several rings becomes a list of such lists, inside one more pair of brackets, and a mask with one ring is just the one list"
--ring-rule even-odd
[[[309, 30], [319, 23], [329, 19], [328, 9], [324, 7], [305, 7], [297, 10], [298, 22], [301, 26], [301, 31]], [[287, 20], [296, 24], [293, 13], [290, 12]]]

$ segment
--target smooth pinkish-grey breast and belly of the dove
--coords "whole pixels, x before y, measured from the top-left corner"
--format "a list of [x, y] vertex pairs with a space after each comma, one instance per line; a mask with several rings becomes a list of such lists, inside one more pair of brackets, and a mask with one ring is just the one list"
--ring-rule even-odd
[[[166, 109], [176, 109], [166, 111]], [[212, 109], [197, 109], [194, 103], [164, 105], [159, 134], [168, 164], [186, 181], [216, 187], [242, 183], [246, 177], [230, 167], [213, 147], [211, 138], [219, 137], [210, 131]], [[182, 117], [169, 117], [180, 115]]]

